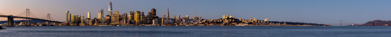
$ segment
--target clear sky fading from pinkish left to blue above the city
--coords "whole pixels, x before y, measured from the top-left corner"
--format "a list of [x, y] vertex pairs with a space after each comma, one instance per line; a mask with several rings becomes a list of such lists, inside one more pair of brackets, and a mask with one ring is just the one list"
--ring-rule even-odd
[[[108, 15], [109, 2], [120, 14], [130, 11], [151, 12], [170, 17], [181, 15], [218, 19], [230, 14], [235, 18], [256, 18], [269, 21], [288, 21], [318, 24], [337, 24], [340, 20], [366, 23], [373, 20], [391, 20], [391, 0], [0, 0], [0, 12], [18, 15], [30, 9], [39, 18], [51, 14], [56, 21], [66, 20], [66, 11], [74, 15], [97, 17], [104, 9]], [[7, 18], [0, 18], [5, 21]], [[21, 19], [15, 19], [21, 20]]]

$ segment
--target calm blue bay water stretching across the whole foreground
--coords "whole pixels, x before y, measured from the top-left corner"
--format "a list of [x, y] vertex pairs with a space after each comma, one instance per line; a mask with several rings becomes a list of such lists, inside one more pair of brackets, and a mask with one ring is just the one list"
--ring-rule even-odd
[[389, 37], [391, 26], [14, 26], [0, 37]]

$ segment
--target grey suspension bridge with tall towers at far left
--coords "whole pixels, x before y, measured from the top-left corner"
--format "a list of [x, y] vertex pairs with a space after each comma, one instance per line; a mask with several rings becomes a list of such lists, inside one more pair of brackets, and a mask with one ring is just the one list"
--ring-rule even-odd
[[[52, 18], [52, 16], [50, 16], [50, 14], [47, 14], [45, 17], [43, 18], [38, 18], [37, 16], [35, 16], [34, 14], [32, 14], [32, 12], [30, 11], [30, 9], [26, 9], [25, 11], [23, 11], [22, 13], [18, 14], [18, 15], [6, 15], [6, 14], [3, 14], [0, 12], [0, 17], [5, 17], [7, 18], [7, 26], [14, 26], [14, 18], [21, 18], [21, 19], [26, 19], [26, 21], [24, 22], [25, 26], [30, 26], [30, 19], [35, 19], [35, 20], [41, 20], [41, 21], [47, 21], [47, 22], [53, 22], [53, 23], [56, 23], [56, 25], [58, 25], [59, 21], [55, 21], [55, 19]], [[46, 18], [46, 19], [45, 19]]]

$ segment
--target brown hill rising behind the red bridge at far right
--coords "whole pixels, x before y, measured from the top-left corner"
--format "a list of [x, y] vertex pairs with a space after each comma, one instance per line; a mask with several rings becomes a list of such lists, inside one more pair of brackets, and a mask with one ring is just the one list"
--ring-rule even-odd
[[[368, 21], [367, 23], [364, 23], [363, 25], [357, 25], [357, 26], [375, 26], [375, 23], [377, 26], [386, 26], [384, 24], [391, 24], [391, 21], [382, 21], [382, 20], [374, 20], [374, 21]], [[352, 25], [350, 25], [352, 26]]]

